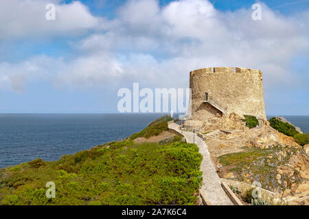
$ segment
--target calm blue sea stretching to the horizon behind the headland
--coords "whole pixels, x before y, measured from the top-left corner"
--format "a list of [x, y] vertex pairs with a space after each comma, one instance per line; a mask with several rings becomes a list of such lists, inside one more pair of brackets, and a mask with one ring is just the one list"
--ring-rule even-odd
[[[162, 114], [0, 114], [0, 168], [124, 139]], [[272, 116], [268, 116], [271, 118]], [[304, 133], [309, 116], [284, 116]]]

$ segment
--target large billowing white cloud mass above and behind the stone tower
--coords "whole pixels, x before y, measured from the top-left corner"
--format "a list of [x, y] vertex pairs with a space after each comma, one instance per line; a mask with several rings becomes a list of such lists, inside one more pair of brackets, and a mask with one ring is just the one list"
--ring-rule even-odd
[[264, 71], [266, 89], [299, 84], [290, 62], [308, 49], [308, 38], [298, 20], [264, 4], [262, 21], [251, 19], [251, 9], [220, 12], [203, 0], [174, 1], [160, 9], [155, 0], [129, 1], [119, 12], [117, 25], [77, 47], [122, 53], [130, 81], [187, 86], [188, 72], [195, 68], [244, 66]]

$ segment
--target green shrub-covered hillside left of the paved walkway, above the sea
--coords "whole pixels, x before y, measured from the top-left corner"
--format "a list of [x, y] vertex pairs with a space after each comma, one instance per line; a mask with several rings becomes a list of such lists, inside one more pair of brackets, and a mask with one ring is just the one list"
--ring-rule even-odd
[[[0, 169], [0, 203], [192, 205], [201, 161], [195, 144], [136, 144], [128, 138], [64, 155], [56, 162], [36, 159]], [[56, 198], [45, 196], [48, 181], [56, 184]]]

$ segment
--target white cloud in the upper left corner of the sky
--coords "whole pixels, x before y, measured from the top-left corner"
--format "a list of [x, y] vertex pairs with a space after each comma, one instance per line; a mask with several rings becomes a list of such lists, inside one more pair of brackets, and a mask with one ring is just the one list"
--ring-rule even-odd
[[[56, 5], [55, 21], [47, 21], [45, 17], [48, 3]], [[0, 39], [72, 36], [97, 27], [99, 22], [79, 1], [69, 4], [60, 0], [1, 1]]]

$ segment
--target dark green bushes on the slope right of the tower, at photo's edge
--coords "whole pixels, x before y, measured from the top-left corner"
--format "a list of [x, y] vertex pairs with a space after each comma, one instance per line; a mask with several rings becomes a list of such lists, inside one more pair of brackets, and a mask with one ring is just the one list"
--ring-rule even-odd
[[277, 118], [273, 117], [269, 120], [271, 123], [271, 127], [276, 129], [277, 131], [284, 133], [286, 136], [293, 137], [297, 144], [304, 146], [305, 144], [309, 144], [309, 133], [299, 133], [296, 131], [293, 125], [289, 123], [284, 123]]

